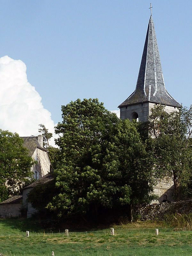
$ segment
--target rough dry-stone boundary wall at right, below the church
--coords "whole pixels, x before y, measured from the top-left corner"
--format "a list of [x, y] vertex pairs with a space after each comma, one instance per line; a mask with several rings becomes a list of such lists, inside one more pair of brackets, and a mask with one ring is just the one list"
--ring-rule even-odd
[[137, 206], [135, 209], [135, 214], [140, 220], [162, 219], [166, 213], [192, 213], [192, 199], [171, 203], [148, 204], [147, 206]]

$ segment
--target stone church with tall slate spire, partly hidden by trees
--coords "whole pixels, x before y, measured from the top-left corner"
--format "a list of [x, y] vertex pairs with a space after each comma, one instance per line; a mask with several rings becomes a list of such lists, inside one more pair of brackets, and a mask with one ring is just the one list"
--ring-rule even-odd
[[[152, 7], [150, 7], [151, 9]], [[159, 57], [156, 33], [152, 12], [148, 23], [143, 54], [140, 63], [135, 91], [121, 103], [120, 118], [132, 121], [146, 122], [151, 114], [151, 108], [161, 104], [167, 113], [178, 111], [181, 105], [167, 92]], [[172, 180], [160, 181], [154, 187], [158, 201], [173, 201], [174, 186]]]

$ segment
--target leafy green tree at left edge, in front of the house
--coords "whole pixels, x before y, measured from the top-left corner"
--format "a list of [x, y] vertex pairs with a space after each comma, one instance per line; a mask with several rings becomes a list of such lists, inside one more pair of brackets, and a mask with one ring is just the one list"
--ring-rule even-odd
[[31, 176], [32, 164], [19, 135], [0, 130], [0, 201], [22, 188]]

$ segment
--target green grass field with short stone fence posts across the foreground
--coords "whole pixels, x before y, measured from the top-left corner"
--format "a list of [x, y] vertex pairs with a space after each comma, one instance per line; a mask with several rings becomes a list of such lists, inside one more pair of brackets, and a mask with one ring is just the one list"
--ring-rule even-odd
[[[139, 222], [114, 226], [110, 231], [63, 233], [35, 232], [38, 227], [22, 220], [0, 220], [0, 252], [4, 256], [145, 256], [192, 255], [192, 231], [167, 229], [161, 223]], [[30, 227], [30, 228], [27, 228]], [[67, 227], [66, 227], [67, 228]], [[159, 235], [155, 235], [159, 228]], [[29, 230], [29, 237], [25, 231]], [[32, 231], [31, 231], [32, 230]]]

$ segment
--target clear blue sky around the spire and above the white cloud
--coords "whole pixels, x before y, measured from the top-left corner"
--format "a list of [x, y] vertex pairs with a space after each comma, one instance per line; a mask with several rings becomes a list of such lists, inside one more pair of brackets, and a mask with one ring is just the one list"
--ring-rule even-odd
[[[135, 89], [148, 1], [1, 1], [0, 57], [27, 66], [54, 123], [61, 105], [98, 98], [116, 110]], [[167, 91], [192, 103], [192, 1], [153, 1]], [[3, 85], [1, 85], [3, 86]]]

